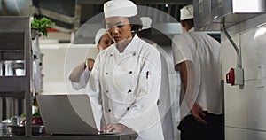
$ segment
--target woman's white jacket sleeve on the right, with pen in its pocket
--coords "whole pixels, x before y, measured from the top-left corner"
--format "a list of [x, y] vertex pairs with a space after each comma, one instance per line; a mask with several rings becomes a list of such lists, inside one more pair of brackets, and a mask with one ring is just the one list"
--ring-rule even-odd
[[136, 99], [118, 121], [137, 132], [152, 128], [160, 122], [157, 100], [160, 94], [161, 63], [157, 50], [154, 49], [145, 57], [141, 69], [137, 77]]

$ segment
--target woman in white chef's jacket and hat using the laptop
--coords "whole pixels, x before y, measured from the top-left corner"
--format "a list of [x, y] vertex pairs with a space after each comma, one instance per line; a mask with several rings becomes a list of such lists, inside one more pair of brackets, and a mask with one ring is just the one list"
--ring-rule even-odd
[[[129, 0], [104, 4], [106, 28], [114, 43], [101, 51], [86, 90], [100, 130], [135, 133], [137, 140], [164, 140], [157, 101], [160, 95], [160, 53], [134, 34], [137, 5]], [[138, 19], [139, 20], [139, 19]]]

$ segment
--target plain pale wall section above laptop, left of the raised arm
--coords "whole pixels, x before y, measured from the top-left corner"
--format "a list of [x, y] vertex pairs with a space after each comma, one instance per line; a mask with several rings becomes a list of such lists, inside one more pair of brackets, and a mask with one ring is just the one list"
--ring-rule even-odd
[[76, 93], [68, 80], [68, 74], [81, 64], [88, 51], [90, 44], [52, 43], [40, 44], [43, 53], [43, 93]]

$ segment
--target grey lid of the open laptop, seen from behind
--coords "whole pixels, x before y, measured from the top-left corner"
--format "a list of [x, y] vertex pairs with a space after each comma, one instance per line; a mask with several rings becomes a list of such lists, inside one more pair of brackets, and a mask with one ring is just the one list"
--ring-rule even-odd
[[101, 134], [97, 129], [88, 95], [38, 95], [37, 102], [46, 133], [55, 135]]

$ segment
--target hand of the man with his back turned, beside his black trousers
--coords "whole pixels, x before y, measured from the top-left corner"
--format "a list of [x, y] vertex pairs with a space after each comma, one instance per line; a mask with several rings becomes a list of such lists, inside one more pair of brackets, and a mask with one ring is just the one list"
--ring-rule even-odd
[[194, 117], [194, 119], [202, 124], [207, 124], [207, 121], [205, 121], [202, 117], [205, 117], [206, 114], [203, 112], [202, 108], [199, 104], [193, 103], [191, 113]]

